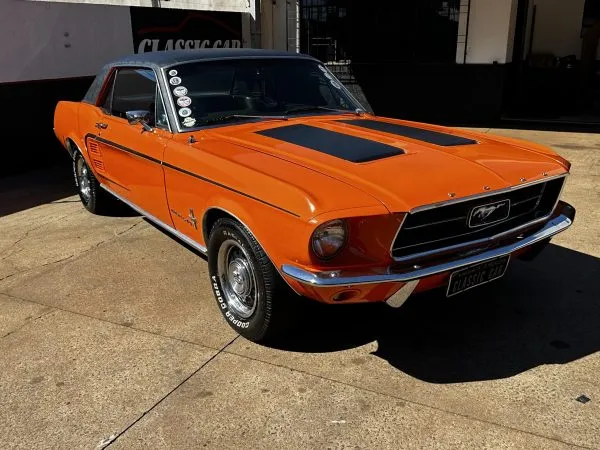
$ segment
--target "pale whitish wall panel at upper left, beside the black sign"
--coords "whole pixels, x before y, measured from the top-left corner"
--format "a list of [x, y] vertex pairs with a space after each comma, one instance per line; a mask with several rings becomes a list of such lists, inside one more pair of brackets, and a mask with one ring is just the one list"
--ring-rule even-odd
[[129, 53], [128, 7], [0, 0], [0, 82], [94, 75]]

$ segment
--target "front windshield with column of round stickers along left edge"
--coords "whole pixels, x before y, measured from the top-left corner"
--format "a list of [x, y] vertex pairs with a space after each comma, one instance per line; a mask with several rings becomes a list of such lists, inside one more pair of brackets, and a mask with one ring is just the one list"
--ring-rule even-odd
[[165, 72], [184, 130], [219, 121], [362, 110], [323, 65], [308, 59], [197, 62]]

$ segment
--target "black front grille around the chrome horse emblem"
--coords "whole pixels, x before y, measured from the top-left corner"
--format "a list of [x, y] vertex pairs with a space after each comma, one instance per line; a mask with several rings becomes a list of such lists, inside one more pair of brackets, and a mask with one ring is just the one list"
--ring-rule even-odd
[[[408, 259], [424, 252], [461, 247], [547, 217], [552, 213], [563, 183], [564, 178], [558, 178], [408, 214], [392, 246], [392, 256]], [[506, 219], [478, 228], [469, 227], [469, 216], [474, 208], [504, 200], [510, 200], [511, 204]]]

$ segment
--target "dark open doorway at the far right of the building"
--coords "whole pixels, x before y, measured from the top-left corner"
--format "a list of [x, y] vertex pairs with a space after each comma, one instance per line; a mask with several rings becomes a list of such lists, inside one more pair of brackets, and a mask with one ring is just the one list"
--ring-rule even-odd
[[519, 0], [503, 119], [600, 125], [600, 0]]

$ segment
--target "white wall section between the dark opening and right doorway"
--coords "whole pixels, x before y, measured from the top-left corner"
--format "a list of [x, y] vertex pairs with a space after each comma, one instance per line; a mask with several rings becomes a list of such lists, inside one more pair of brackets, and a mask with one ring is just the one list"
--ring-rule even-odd
[[[570, 1], [570, 0], [565, 0]], [[459, 36], [467, 27], [468, 1], [461, 1]], [[467, 58], [464, 43], [457, 45], [456, 61], [467, 64], [504, 64], [512, 59], [517, 0], [471, 0], [467, 35]]]

